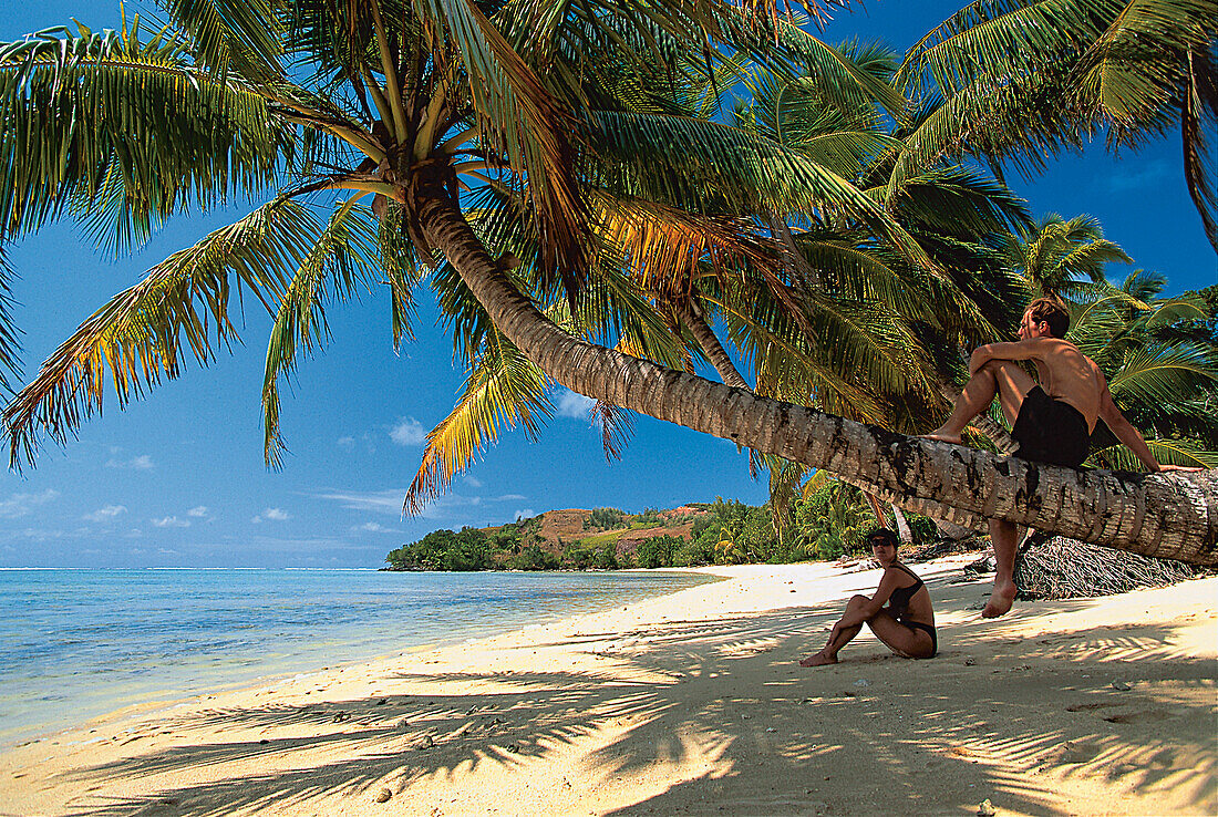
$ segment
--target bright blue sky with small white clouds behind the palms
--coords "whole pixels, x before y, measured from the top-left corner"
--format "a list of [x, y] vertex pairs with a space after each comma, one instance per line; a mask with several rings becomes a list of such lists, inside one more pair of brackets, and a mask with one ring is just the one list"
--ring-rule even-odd
[[[128, 4], [128, 10], [133, 7]], [[905, 47], [951, 11], [940, 2], [875, 0], [839, 13], [825, 38], [885, 39]], [[0, 40], [77, 17], [114, 26], [118, 4], [0, 0]], [[1089, 213], [1136, 267], [1164, 273], [1170, 291], [1218, 281], [1218, 263], [1185, 190], [1179, 142], [1113, 160], [1102, 145], [1051, 163], [1033, 181], [1010, 179], [1033, 212]], [[117, 262], [71, 224], [11, 247], [19, 280], [27, 379], [38, 363], [114, 292], [167, 254], [231, 220], [211, 213], [173, 222]], [[1121, 278], [1125, 269], [1113, 268]], [[245, 313], [244, 345], [211, 366], [188, 368], [144, 399], [84, 424], [79, 438], [44, 449], [35, 469], [0, 476], [0, 567], [5, 566], [368, 566], [437, 527], [484, 526], [552, 508], [674, 507], [716, 496], [765, 500], [732, 443], [639, 418], [625, 457], [607, 463], [582, 398], [557, 393], [560, 412], [530, 442], [508, 431], [423, 516], [401, 503], [423, 436], [462, 385], [451, 340], [425, 296], [418, 340], [391, 346], [381, 293], [329, 313], [334, 341], [284, 390], [290, 453], [279, 472], [262, 463], [259, 392], [269, 320]]]

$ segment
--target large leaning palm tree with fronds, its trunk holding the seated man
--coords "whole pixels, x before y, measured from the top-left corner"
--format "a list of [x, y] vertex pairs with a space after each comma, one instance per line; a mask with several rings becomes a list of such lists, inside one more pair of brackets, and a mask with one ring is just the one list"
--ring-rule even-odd
[[[73, 214], [122, 245], [188, 203], [274, 197], [155, 267], [44, 363], [5, 412], [15, 463], [33, 457], [39, 429], [63, 441], [97, 410], [107, 373], [122, 403], [191, 357], [206, 363], [234, 336], [234, 284], [275, 315], [264, 390], [274, 461], [274, 384], [324, 341], [325, 301], [384, 280], [401, 336], [413, 262], [443, 259], [459, 276], [457, 308], [484, 312], [485, 325], [541, 371], [604, 403], [826, 466], [951, 521], [996, 515], [1216, 560], [1218, 521], [1207, 508], [1218, 475], [1130, 479], [998, 461], [590, 343], [538, 308], [566, 300], [577, 314], [596, 273], [587, 179], [649, 183], [639, 194], [715, 192], [734, 212], [832, 209], [929, 268], [909, 234], [832, 170], [728, 125], [665, 116], [680, 86], [659, 99], [639, 93], [650, 84], [638, 75], [675, 71], [674, 55], [691, 46], [716, 63], [716, 43], [784, 46], [806, 37], [794, 27], [780, 21], [776, 37], [767, 16], [719, 2], [164, 6], [175, 30], [144, 39], [133, 23], [0, 47], [5, 234]], [[833, 55], [806, 52], [818, 60], [815, 73], [851, 82]], [[518, 237], [533, 251], [515, 253], [523, 264], [492, 254], [499, 248], [465, 217], [466, 188], [514, 198], [527, 214]], [[323, 191], [343, 192], [333, 207], [311, 206]]]

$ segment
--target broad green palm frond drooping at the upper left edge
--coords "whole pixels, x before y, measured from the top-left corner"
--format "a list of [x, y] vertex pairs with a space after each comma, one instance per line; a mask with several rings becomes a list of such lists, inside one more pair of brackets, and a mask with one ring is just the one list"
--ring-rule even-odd
[[291, 161], [292, 129], [262, 96], [194, 68], [172, 35], [141, 43], [134, 28], [48, 29], [0, 45], [9, 235], [69, 208], [112, 213], [119, 236], [141, 241], [173, 212], [273, 188]]

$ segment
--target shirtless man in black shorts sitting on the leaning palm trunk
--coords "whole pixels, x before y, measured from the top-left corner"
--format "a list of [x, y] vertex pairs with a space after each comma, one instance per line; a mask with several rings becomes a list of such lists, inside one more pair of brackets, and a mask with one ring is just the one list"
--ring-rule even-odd
[[[1050, 298], [1033, 301], [1023, 313], [1019, 340], [978, 347], [968, 359], [970, 380], [951, 416], [923, 436], [959, 446], [968, 421], [989, 408], [996, 396], [1011, 423], [1011, 436], [1019, 443], [1015, 455], [1021, 459], [1077, 468], [1086, 459], [1096, 419], [1102, 419], [1149, 470], [1173, 468], [1158, 464], [1138, 429], [1121, 414], [1095, 362], [1069, 341], [1061, 340], [1067, 329], [1069, 313], [1065, 307]], [[1039, 385], [1019, 368], [1018, 360], [1035, 364]], [[1011, 522], [990, 520], [989, 532], [998, 572], [982, 615], [996, 619], [1015, 601], [1018, 543]]]

